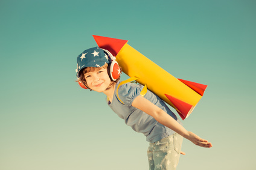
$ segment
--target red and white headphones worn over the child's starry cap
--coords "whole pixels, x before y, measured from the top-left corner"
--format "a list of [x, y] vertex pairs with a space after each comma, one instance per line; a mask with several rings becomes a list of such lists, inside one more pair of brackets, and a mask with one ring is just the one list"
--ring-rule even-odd
[[[107, 73], [109, 74], [110, 80], [115, 81], [120, 76], [120, 67], [118, 65], [118, 62], [115, 61], [115, 56], [113, 56], [112, 53], [110, 53], [108, 50], [105, 50], [105, 49], [103, 50], [104, 50], [104, 53], [106, 53], [106, 55], [109, 56], [111, 60], [107, 67]], [[84, 89], [89, 89], [88, 87], [86, 87], [86, 85], [82, 81], [78, 81], [78, 84], [80, 85], [80, 87]]]

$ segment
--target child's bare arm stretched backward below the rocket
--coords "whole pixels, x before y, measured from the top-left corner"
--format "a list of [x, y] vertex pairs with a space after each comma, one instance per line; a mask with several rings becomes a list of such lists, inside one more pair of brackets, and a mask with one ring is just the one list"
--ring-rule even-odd
[[200, 138], [193, 132], [188, 132], [183, 126], [181, 126], [181, 124], [179, 124], [176, 120], [174, 120], [170, 115], [168, 115], [158, 106], [154, 105], [144, 97], [142, 96], [136, 97], [132, 102], [132, 106], [140, 109], [146, 114], [149, 114], [150, 116], [155, 118], [156, 121], [174, 130], [175, 132], [179, 133], [179, 135], [190, 140], [194, 144], [199, 145], [200, 147], [205, 147], [205, 148], [213, 147], [213, 145], [211, 145], [210, 142]]

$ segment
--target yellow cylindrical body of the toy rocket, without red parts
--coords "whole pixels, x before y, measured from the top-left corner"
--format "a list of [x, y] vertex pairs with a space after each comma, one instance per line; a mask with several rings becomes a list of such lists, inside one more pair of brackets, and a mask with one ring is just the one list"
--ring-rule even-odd
[[[138, 83], [142, 85], [147, 84], [147, 88], [150, 91], [153, 91], [173, 108], [175, 106], [168, 100], [165, 94], [192, 106], [196, 106], [202, 97], [127, 43], [124, 44], [116, 58], [124, 73], [130, 77], [138, 77], [136, 80]], [[193, 108], [191, 108], [191, 111]]]

